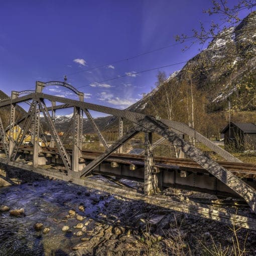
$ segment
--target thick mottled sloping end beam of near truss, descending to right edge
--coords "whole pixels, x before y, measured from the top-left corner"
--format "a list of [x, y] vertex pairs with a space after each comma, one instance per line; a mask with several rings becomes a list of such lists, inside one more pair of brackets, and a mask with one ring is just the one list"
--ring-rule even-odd
[[206, 157], [199, 149], [180, 138], [176, 133], [170, 131], [168, 126], [164, 123], [156, 120], [152, 116], [146, 116], [141, 120], [141, 125], [138, 126], [138, 130], [157, 133], [173, 143], [174, 146], [180, 146], [186, 156], [192, 158], [210, 174], [241, 196], [250, 206], [252, 211], [256, 213], [256, 191], [253, 188], [230, 171]]

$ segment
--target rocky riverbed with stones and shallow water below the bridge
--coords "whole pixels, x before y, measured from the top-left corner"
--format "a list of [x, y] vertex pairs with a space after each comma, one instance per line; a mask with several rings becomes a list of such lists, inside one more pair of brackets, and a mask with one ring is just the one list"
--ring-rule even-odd
[[255, 231], [235, 235], [229, 225], [72, 183], [33, 181], [0, 193], [3, 256], [211, 255], [220, 244], [233, 255], [236, 238], [246, 255], [256, 254]]

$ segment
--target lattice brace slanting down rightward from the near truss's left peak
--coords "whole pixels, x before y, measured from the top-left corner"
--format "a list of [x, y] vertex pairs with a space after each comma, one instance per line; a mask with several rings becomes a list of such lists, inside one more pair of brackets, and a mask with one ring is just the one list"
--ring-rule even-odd
[[52, 133], [52, 135], [54, 137], [54, 140], [55, 140], [55, 142], [57, 144], [57, 148], [59, 150], [61, 159], [62, 159], [62, 161], [63, 161], [63, 163], [64, 163], [64, 165], [66, 167], [67, 172], [69, 172], [70, 170], [72, 170], [71, 161], [70, 161], [69, 155], [67, 154], [67, 152], [66, 152], [66, 150], [65, 150], [65, 148], [64, 148], [64, 146], [63, 146], [63, 144], [62, 144], [62, 142], [60, 140], [60, 137], [59, 137], [59, 135], [58, 135], [58, 133], [56, 131], [55, 125], [54, 125], [54, 123], [52, 121], [52, 118], [51, 118], [51, 115], [50, 115], [50, 113], [49, 113], [49, 111], [48, 111], [48, 109], [47, 109], [47, 107], [46, 107], [46, 105], [44, 103], [44, 100], [40, 99], [40, 100], [38, 100], [38, 103], [39, 103], [41, 111], [44, 114], [45, 119], [49, 123], [49, 127], [50, 127], [51, 133]]

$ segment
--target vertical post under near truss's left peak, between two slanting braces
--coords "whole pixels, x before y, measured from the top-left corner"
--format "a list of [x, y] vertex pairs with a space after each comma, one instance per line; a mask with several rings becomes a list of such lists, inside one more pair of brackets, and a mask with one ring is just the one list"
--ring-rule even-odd
[[34, 109], [34, 123], [33, 126], [33, 166], [38, 167], [38, 153], [39, 153], [39, 129], [40, 129], [40, 109], [36, 102]]

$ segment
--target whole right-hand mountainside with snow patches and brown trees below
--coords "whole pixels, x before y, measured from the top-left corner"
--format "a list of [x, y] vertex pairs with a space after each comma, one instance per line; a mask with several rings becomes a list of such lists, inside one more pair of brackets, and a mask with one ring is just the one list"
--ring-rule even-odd
[[158, 74], [158, 86], [128, 109], [191, 124], [208, 137], [226, 124], [228, 101], [233, 121], [255, 122], [255, 24], [252, 12], [222, 31], [181, 70]]

